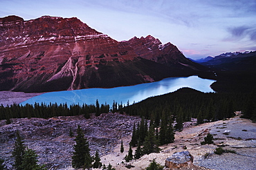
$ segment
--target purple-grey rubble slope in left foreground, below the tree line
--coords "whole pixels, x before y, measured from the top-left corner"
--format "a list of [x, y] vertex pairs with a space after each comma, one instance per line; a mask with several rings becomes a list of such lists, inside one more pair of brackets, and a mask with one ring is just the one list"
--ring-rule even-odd
[[71, 117], [11, 119], [11, 124], [0, 122], [0, 153], [4, 164], [12, 169], [13, 158], [10, 157], [15, 143], [15, 134], [19, 130], [24, 144], [34, 149], [39, 155], [39, 163], [46, 164], [47, 169], [65, 169], [71, 167], [75, 137], [69, 136], [69, 130], [76, 135], [79, 124], [84, 137], [89, 141], [91, 155], [98, 151], [105, 155], [113, 150], [120, 138], [131, 135], [134, 122], [139, 117], [118, 113], [103, 113], [86, 120], [83, 115]]

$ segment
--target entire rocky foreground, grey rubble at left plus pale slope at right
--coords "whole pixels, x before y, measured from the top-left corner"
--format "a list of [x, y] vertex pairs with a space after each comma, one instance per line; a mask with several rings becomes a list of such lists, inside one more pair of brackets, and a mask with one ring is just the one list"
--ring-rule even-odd
[[[123, 158], [128, 152], [131, 131], [139, 117], [120, 115], [118, 113], [102, 114], [90, 120], [82, 116], [53, 117], [48, 120], [12, 119], [12, 124], [0, 122], [0, 152], [6, 160], [7, 169], [12, 169], [10, 158], [15, 142], [15, 131], [19, 130], [25, 138], [25, 144], [35, 149], [39, 163], [46, 164], [48, 169], [73, 169], [71, 156], [74, 137], [68, 136], [69, 129], [75, 132], [80, 124], [88, 138], [91, 153], [100, 152], [103, 164], [112, 164], [118, 169], [145, 169], [154, 158], [161, 165], [170, 155], [189, 151], [194, 157], [193, 164], [183, 169], [255, 169], [256, 167], [256, 124], [239, 117], [194, 126], [196, 120], [185, 122], [185, 129], [176, 132], [175, 142], [161, 146], [161, 153], [144, 155], [129, 163]], [[201, 145], [200, 142], [208, 133], [214, 136], [214, 144]], [[125, 152], [120, 153], [120, 141], [124, 142]], [[214, 154], [217, 147], [236, 151], [236, 153]], [[134, 148], [135, 151], [136, 148]]]

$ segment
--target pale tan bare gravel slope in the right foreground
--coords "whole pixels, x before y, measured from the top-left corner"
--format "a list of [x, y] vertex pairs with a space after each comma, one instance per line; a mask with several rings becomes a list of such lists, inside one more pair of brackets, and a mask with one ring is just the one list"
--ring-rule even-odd
[[[108, 155], [102, 157], [105, 164], [110, 162], [117, 170], [127, 169], [127, 164], [131, 164], [131, 170], [145, 169], [154, 158], [158, 164], [164, 165], [165, 159], [173, 153], [188, 150], [194, 157], [194, 165], [199, 167], [188, 167], [185, 169], [255, 169], [256, 167], [256, 124], [250, 120], [239, 117], [229, 120], [220, 120], [191, 126], [193, 122], [186, 122], [187, 128], [181, 132], [176, 132], [175, 141], [172, 144], [161, 146], [161, 153], [151, 153], [143, 155], [138, 160], [132, 160], [124, 163], [123, 159], [129, 149], [130, 138], [123, 138], [125, 152], [120, 153], [120, 142], [115, 149]], [[226, 126], [222, 129], [221, 127]], [[221, 129], [220, 129], [221, 128]], [[224, 131], [230, 133], [224, 135]], [[201, 145], [203, 138], [211, 133], [214, 135], [214, 144]], [[240, 139], [240, 138], [241, 139]], [[214, 150], [222, 146], [223, 149], [236, 151], [237, 153], [223, 153], [222, 155], [214, 154]], [[186, 149], [185, 149], [186, 148]], [[133, 148], [135, 151], [136, 148]], [[205, 158], [205, 154], [208, 156]]]

